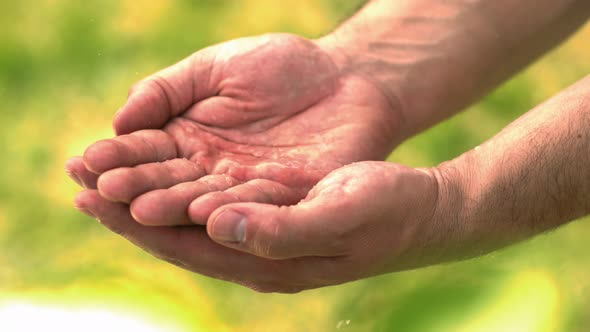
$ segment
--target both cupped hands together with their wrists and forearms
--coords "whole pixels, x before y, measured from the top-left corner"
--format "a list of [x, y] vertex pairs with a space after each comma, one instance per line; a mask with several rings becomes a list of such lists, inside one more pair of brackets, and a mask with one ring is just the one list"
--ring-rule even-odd
[[373, 0], [318, 41], [206, 48], [138, 83], [119, 136], [68, 161], [86, 189], [75, 204], [156, 257], [257, 291], [498, 249], [590, 213], [590, 77], [437, 167], [375, 160], [588, 16], [585, 0]]

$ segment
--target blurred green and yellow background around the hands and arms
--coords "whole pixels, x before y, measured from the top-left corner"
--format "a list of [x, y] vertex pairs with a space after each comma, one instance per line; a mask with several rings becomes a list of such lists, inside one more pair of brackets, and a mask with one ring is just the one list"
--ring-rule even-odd
[[[132, 317], [145, 331], [589, 331], [584, 220], [467, 262], [269, 295], [160, 262], [73, 209], [64, 162], [112, 135], [133, 82], [230, 38], [320, 36], [360, 3], [1, 0], [0, 329], [59, 308], [62, 331], [76, 317], [123, 329], [82, 312]], [[588, 40], [586, 28], [390, 160], [436, 165], [480, 144], [590, 73]]]

